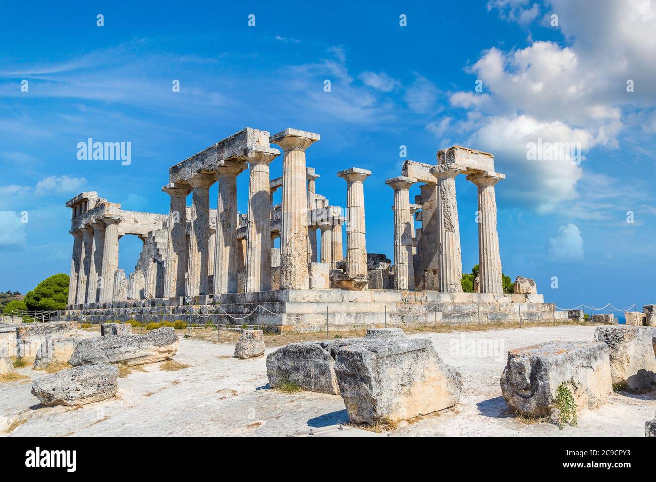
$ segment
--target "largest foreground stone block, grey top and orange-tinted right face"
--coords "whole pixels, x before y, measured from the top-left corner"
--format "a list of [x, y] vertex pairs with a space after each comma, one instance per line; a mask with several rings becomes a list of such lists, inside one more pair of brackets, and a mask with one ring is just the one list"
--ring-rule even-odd
[[337, 351], [335, 373], [355, 424], [397, 422], [453, 407], [462, 389], [459, 372], [426, 338], [344, 346]]

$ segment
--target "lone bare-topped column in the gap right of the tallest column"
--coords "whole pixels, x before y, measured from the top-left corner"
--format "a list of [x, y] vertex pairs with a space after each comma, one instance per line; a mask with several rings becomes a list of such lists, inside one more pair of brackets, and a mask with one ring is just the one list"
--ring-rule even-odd
[[367, 276], [365, 193], [362, 182], [371, 171], [352, 167], [337, 176], [346, 180], [346, 275]]

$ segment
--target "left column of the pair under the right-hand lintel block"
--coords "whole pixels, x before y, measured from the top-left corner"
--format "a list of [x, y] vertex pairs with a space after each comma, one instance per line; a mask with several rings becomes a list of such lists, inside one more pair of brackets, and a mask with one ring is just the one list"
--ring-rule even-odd
[[460, 249], [460, 223], [458, 202], [455, 195], [455, 176], [461, 169], [440, 165], [431, 169], [438, 180], [438, 230], [440, 243], [441, 292], [462, 292], [462, 254]]

